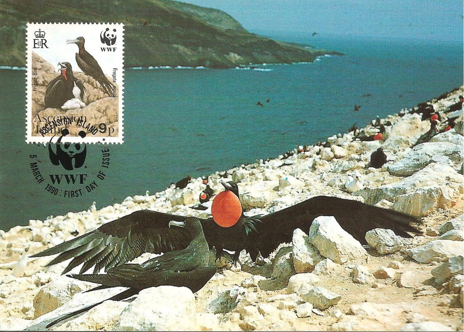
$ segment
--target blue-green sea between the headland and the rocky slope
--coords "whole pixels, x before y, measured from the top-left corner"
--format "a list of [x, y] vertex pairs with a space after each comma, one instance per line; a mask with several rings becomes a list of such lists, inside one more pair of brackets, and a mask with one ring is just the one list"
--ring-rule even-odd
[[[69, 199], [35, 182], [29, 155], [40, 150], [46, 157], [46, 150], [25, 143], [25, 72], [0, 69], [0, 229], [86, 210], [93, 201], [102, 208], [146, 190], [154, 194], [186, 175], [277, 157], [463, 84], [462, 40], [267, 37], [345, 56], [257, 69], [126, 70], [124, 144], [110, 146], [111, 167], [101, 185]], [[101, 146], [87, 149], [88, 155], [101, 153]]]

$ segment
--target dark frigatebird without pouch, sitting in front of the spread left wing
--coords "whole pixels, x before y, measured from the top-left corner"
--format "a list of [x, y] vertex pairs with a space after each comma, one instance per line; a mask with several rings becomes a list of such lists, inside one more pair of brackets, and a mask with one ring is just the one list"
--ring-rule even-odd
[[[216, 272], [216, 267], [208, 267], [209, 248], [200, 220], [195, 217], [184, 219], [184, 221], [169, 221], [168, 230], [172, 225], [182, 227], [182, 231], [191, 238], [186, 248], [166, 252], [164, 255], [149, 259], [142, 264], [122, 264], [108, 269], [107, 274], [71, 274], [70, 276], [75, 279], [100, 284], [100, 286], [92, 288], [88, 292], [111, 287], [129, 288], [108, 299], [113, 301], [124, 300], [138, 294], [142, 289], [162, 285], [187, 287], [195, 293], [211, 279]], [[32, 327], [49, 328], [64, 319], [88, 311], [103, 303], [103, 301], [41, 322], [37, 326], [29, 327], [29, 329]]]

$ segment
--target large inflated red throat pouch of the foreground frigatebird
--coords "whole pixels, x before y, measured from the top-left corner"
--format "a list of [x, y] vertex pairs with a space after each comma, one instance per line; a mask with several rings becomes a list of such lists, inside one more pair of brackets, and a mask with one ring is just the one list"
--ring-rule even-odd
[[232, 191], [225, 190], [214, 197], [211, 214], [219, 226], [232, 227], [242, 215], [242, 204]]

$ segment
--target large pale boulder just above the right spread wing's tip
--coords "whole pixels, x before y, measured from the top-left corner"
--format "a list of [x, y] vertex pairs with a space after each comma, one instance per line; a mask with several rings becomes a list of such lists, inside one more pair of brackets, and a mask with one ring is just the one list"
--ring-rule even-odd
[[356, 192], [366, 204], [380, 200], [393, 202], [393, 209], [414, 217], [423, 217], [438, 208], [451, 207], [463, 192], [462, 175], [450, 166], [430, 163], [401, 181]]

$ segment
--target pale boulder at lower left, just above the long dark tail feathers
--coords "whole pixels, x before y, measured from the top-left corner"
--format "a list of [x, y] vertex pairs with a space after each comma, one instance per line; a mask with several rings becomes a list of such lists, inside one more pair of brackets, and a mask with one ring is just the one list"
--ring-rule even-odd
[[83, 282], [67, 276], [59, 276], [40, 288], [33, 300], [34, 317], [49, 313], [71, 300], [72, 296], [92, 288], [90, 282]]

